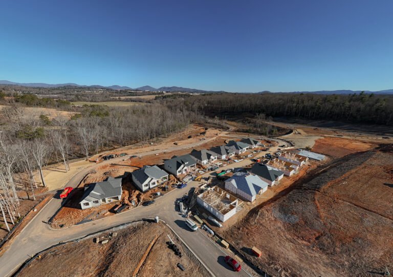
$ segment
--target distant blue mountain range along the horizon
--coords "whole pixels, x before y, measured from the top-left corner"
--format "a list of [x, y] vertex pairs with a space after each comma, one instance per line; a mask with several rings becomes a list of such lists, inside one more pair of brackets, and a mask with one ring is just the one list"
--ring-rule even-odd
[[[76, 83], [57, 83], [57, 84], [49, 84], [49, 83], [17, 83], [11, 82], [7, 80], [0, 80], [0, 84], [6, 85], [14, 85], [14, 86], [23, 86], [23, 87], [36, 87], [36, 88], [60, 88], [60, 87], [78, 87], [78, 88], [96, 88], [96, 89], [112, 89], [112, 90], [141, 90], [141, 91], [168, 91], [168, 92], [188, 92], [188, 93], [225, 93], [225, 91], [205, 91], [198, 89], [189, 89], [182, 87], [161, 87], [161, 88], [153, 88], [150, 86], [143, 86], [139, 88], [130, 88], [125, 86], [118, 86], [114, 84], [113, 86], [100, 86], [98, 84], [94, 84], [92, 86], [80, 85]], [[337, 91], [294, 91], [294, 92], [281, 92], [281, 93], [316, 93], [316, 94], [353, 94], [360, 93], [361, 91], [351, 91], [351, 90], [337, 90]], [[365, 93], [374, 93], [374, 94], [393, 94], [393, 89], [383, 90], [383, 91], [364, 91]], [[242, 92], [245, 93], [245, 92]], [[270, 91], [261, 91], [258, 93], [272, 93]], [[277, 92], [276, 92], [277, 93]]]

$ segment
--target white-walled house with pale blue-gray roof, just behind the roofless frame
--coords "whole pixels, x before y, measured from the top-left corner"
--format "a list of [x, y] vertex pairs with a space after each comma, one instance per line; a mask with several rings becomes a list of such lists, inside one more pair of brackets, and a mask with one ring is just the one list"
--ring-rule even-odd
[[245, 172], [235, 172], [225, 181], [225, 189], [253, 202], [257, 195], [263, 194], [268, 189], [268, 183], [258, 176]]

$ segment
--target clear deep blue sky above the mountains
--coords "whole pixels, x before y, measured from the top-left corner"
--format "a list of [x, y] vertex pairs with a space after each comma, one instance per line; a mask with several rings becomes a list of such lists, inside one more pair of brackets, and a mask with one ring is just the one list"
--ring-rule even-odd
[[4, 0], [0, 10], [0, 79], [15, 82], [393, 88], [392, 0]]

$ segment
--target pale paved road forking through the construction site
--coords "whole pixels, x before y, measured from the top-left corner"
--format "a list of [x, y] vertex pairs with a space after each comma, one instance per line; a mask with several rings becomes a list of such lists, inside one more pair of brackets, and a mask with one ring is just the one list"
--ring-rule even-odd
[[[209, 140], [187, 145], [187, 147], [174, 147], [171, 148], [170, 151], [197, 146], [198, 144], [205, 143], [206, 141]], [[161, 150], [159, 152], [163, 151], [164, 150]], [[152, 155], [159, 152], [146, 152], [142, 155]], [[114, 160], [106, 162], [111, 163], [113, 161]], [[226, 167], [243, 167], [249, 163], [249, 160], [244, 160]], [[94, 166], [95, 165], [83, 169], [83, 171], [76, 174], [66, 186], [75, 186], [78, 184], [85, 174], [94, 168]], [[209, 174], [206, 174], [206, 176], [207, 175]], [[148, 207], [140, 206], [124, 211], [118, 215], [64, 229], [51, 229], [48, 224], [45, 223], [61, 206], [62, 200], [53, 198], [42, 210], [38, 212], [24, 230], [19, 233], [17, 238], [10, 245], [9, 249], [2, 255], [2, 257], [0, 257], [0, 276], [11, 275], [24, 261], [29, 259], [30, 256], [59, 242], [84, 237], [90, 233], [130, 221], [156, 216], [165, 220], [168, 225], [178, 233], [183, 241], [192, 249], [195, 255], [197, 255], [197, 257], [204, 263], [205, 267], [207, 267], [215, 276], [249, 276], [249, 273], [245, 270], [242, 270], [241, 272], [233, 272], [225, 266], [223, 257], [225, 257], [226, 254], [223, 253], [221, 248], [212, 243], [204, 235], [202, 230], [197, 232], [189, 230], [184, 224], [184, 218], [176, 212], [174, 204], [176, 199], [182, 197], [191, 187], [198, 186], [199, 184], [199, 182], [190, 182], [186, 188], [175, 189], [169, 194], [157, 199], [155, 204]]]

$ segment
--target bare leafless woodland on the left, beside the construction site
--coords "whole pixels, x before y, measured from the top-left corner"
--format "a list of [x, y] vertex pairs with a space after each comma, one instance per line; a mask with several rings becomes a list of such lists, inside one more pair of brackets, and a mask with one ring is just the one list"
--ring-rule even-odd
[[[19, 103], [6, 106], [0, 116], [0, 211], [9, 230], [20, 217], [18, 190], [35, 200], [35, 190], [46, 186], [42, 168], [69, 159], [89, 159], [105, 149], [169, 136], [191, 122], [206, 118], [187, 110], [173, 111], [159, 103], [127, 108], [91, 105], [78, 116], [50, 118], [27, 113]], [[17, 176], [17, 178], [15, 178]]]

